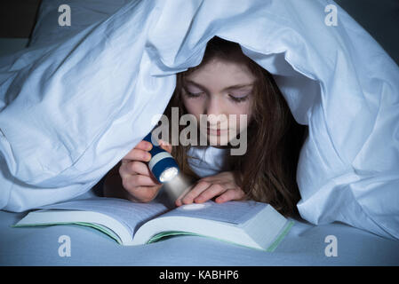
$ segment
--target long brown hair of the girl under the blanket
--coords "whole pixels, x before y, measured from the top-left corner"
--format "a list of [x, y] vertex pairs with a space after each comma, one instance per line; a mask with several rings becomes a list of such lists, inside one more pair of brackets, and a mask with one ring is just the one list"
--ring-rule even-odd
[[[181, 99], [185, 76], [215, 58], [244, 62], [256, 77], [252, 89], [251, 122], [247, 129], [247, 151], [243, 155], [227, 157], [230, 169], [239, 173], [235, 182], [246, 193], [247, 199], [267, 202], [284, 216], [297, 215], [296, 170], [306, 126], [295, 122], [272, 75], [246, 57], [238, 43], [213, 37], [206, 46], [201, 64], [177, 75], [176, 89], [164, 114], [171, 122], [172, 107], [179, 107], [180, 115], [188, 113]], [[179, 126], [180, 130], [184, 127]], [[169, 133], [172, 133], [171, 129]], [[183, 173], [197, 179], [199, 177], [188, 165], [189, 148], [172, 146], [172, 155]]]

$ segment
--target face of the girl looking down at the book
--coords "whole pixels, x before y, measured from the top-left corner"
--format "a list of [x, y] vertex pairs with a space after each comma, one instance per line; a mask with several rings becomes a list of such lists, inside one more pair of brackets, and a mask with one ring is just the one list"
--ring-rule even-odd
[[[255, 76], [244, 63], [217, 58], [185, 76], [183, 104], [197, 122], [201, 122], [200, 114], [206, 114], [207, 125], [199, 123], [200, 131], [207, 134], [211, 145], [225, 146], [246, 129], [251, 121], [254, 82]], [[246, 115], [246, 121], [240, 114]]]

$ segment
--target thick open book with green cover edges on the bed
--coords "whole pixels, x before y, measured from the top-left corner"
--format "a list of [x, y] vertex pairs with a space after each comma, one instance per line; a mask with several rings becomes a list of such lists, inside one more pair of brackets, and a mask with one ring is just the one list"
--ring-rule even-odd
[[273, 251], [293, 221], [272, 206], [255, 201], [207, 201], [168, 209], [154, 201], [134, 203], [98, 197], [42, 207], [14, 226], [62, 224], [91, 226], [126, 246], [191, 234]]

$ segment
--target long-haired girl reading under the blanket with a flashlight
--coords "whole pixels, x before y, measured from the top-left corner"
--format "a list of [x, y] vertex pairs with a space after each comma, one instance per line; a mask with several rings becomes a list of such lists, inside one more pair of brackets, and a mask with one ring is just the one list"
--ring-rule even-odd
[[[169, 119], [172, 107], [179, 107], [180, 115], [195, 115], [197, 122], [200, 114], [236, 114], [237, 129], [247, 134], [243, 155], [229, 154], [230, 137], [227, 144], [222, 143], [229, 133], [227, 128], [233, 126], [225, 128], [225, 124], [211, 119], [204, 131], [214, 146], [171, 146], [159, 141], [180, 170], [197, 180], [178, 198], [177, 206], [210, 199], [251, 199], [271, 204], [284, 216], [298, 213], [296, 168], [306, 127], [293, 119], [272, 75], [246, 57], [238, 43], [212, 38], [201, 64], [177, 75], [176, 89], [165, 110]], [[240, 114], [247, 116], [245, 125], [239, 125]], [[141, 202], [156, 197], [162, 184], [145, 163], [150, 160], [150, 147], [150, 143], [141, 141], [108, 173], [105, 196]]]

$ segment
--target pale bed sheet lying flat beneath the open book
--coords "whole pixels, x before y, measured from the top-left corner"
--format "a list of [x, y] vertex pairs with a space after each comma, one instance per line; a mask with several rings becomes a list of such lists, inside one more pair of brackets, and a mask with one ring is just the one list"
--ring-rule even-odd
[[[354, 227], [310, 225], [296, 220], [274, 252], [262, 252], [197, 236], [176, 236], [124, 247], [95, 229], [78, 225], [12, 228], [26, 213], [0, 212], [0, 265], [302, 266], [398, 265], [399, 242]], [[60, 236], [70, 256], [60, 256]], [[336, 256], [331, 239], [336, 238]], [[331, 237], [330, 237], [331, 238]], [[327, 240], [326, 240], [327, 239]], [[325, 242], [328, 241], [328, 242]]]

